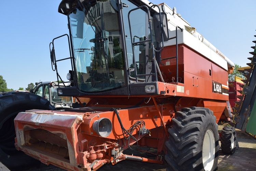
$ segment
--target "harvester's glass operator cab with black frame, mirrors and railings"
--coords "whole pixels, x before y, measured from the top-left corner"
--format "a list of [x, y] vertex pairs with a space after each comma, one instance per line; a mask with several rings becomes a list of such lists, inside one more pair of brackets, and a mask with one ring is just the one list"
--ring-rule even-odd
[[[71, 86], [59, 87], [59, 95], [159, 94], [158, 80], [163, 79], [158, 56], [169, 35], [166, 14], [159, 15], [157, 5], [62, 0], [58, 11], [68, 17], [71, 52], [65, 59], [72, 66], [67, 75]], [[54, 40], [50, 43], [53, 70], [58, 81], [66, 83], [57, 71], [60, 60], [55, 58]]]

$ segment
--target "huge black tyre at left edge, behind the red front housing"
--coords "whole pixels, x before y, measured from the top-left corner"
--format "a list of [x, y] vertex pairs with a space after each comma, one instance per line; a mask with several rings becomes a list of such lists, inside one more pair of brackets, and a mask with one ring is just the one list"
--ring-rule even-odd
[[[50, 102], [27, 92], [0, 94], [0, 161], [10, 170], [35, 162], [31, 157], [15, 149], [14, 118], [19, 112], [31, 109], [56, 110]], [[30, 162], [31, 161], [31, 162]], [[24, 168], [23, 168], [24, 169]]]

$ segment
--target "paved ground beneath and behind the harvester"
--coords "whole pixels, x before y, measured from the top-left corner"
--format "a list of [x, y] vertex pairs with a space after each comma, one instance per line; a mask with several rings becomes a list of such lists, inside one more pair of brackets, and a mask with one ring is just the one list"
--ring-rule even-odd
[[[219, 131], [222, 130], [224, 125], [219, 125]], [[233, 155], [225, 155], [219, 150], [219, 160], [218, 160], [218, 171], [255, 171], [256, 170], [256, 139], [244, 133], [241, 130], [236, 130], [237, 138], [239, 143], [239, 148]], [[154, 152], [155, 149], [143, 148], [143, 150], [148, 150]], [[139, 151], [127, 150], [125, 154], [134, 154], [137, 156], [143, 156], [147, 158], [154, 158], [153, 156], [146, 155]], [[164, 165], [143, 163], [138, 161], [124, 160], [117, 163], [115, 166], [106, 164], [102, 166], [99, 171], [130, 171], [130, 170], [145, 170], [145, 171], [165, 171], [166, 163]], [[62, 169], [56, 168], [54, 166], [45, 166], [41, 164], [40, 168], [32, 168], [30, 170], [37, 171], [63, 171]]]

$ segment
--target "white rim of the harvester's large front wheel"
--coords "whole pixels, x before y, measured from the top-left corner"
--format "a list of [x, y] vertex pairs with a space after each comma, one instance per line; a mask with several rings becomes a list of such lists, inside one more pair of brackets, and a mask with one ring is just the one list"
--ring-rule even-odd
[[203, 138], [202, 159], [204, 170], [212, 170], [215, 157], [215, 138], [212, 130], [208, 129]]

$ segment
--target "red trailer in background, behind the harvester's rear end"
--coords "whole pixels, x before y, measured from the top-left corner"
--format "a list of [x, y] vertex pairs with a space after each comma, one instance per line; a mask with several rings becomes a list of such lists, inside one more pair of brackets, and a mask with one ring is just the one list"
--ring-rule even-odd
[[235, 81], [228, 82], [229, 103], [232, 108], [234, 108], [236, 105], [236, 103], [234, 103], [235, 101], [241, 101], [239, 98], [237, 98], [237, 96], [242, 96], [241, 91], [243, 88], [241, 86], [244, 85], [244, 82], [241, 80], [242, 78], [236, 76]]

